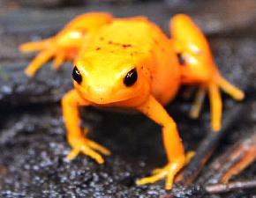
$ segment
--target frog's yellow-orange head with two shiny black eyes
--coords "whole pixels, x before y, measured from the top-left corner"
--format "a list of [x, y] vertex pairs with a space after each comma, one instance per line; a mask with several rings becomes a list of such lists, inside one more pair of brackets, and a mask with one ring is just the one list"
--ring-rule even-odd
[[149, 92], [141, 67], [124, 56], [83, 56], [75, 62], [72, 77], [79, 94], [95, 104], [124, 101]]

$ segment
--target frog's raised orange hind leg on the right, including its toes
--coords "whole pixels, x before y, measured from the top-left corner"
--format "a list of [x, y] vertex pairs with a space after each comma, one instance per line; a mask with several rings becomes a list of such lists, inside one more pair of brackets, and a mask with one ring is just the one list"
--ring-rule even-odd
[[218, 70], [206, 37], [192, 19], [184, 14], [177, 14], [170, 21], [173, 48], [177, 53], [180, 65], [182, 84], [200, 84], [194, 105], [192, 117], [198, 117], [206, 90], [209, 93], [212, 128], [221, 129], [222, 99], [220, 89], [230, 94], [234, 99], [244, 99], [244, 92], [225, 80]]

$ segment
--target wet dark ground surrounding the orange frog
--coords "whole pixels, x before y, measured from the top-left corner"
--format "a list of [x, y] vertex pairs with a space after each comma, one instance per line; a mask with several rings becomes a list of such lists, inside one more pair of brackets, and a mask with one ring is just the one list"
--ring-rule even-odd
[[[159, 197], [167, 194], [164, 182], [136, 187], [134, 181], [164, 165], [161, 128], [140, 114], [121, 114], [82, 109], [83, 126], [89, 136], [102, 143], [112, 155], [104, 165], [79, 155], [72, 162], [64, 157], [70, 147], [65, 140], [60, 99], [72, 88], [72, 65], [61, 70], [45, 65], [38, 75], [27, 78], [23, 70], [33, 55], [19, 54], [19, 43], [40, 40], [56, 33], [70, 18], [86, 11], [110, 11], [117, 17], [147, 15], [168, 33], [168, 20], [177, 11], [189, 13], [207, 33], [216, 62], [231, 83], [246, 92], [237, 103], [222, 94], [223, 122], [234, 108], [241, 108], [237, 121], [210, 159], [199, 179], [188, 187], [175, 186], [175, 197], [252, 197], [255, 189], [227, 194], [207, 194], [211, 182], [208, 166], [233, 143], [256, 130], [256, 2], [195, 1], [172, 4], [103, 4], [50, 10], [2, 8], [0, 10], [0, 197]], [[184, 1], [185, 2], [185, 1]], [[243, 4], [242, 4], [243, 2]], [[200, 119], [188, 112], [192, 99], [178, 94], [167, 109], [177, 121], [186, 150], [195, 150], [209, 133], [209, 106], [206, 100]], [[255, 179], [256, 164], [232, 180]]]

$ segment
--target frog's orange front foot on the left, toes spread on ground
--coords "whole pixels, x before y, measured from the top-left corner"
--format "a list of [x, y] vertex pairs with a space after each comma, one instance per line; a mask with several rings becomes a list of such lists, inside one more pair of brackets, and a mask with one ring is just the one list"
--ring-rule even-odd
[[95, 143], [94, 141], [87, 138], [82, 138], [77, 139], [75, 143], [72, 143], [72, 151], [66, 158], [68, 160], [72, 160], [77, 155], [79, 155], [79, 152], [82, 152], [90, 158], [94, 158], [94, 160], [99, 164], [103, 164], [104, 159], [95, 150], [101, 152], [103, 155], [110, 155], [110, 151], [107, 148], [103, 147], [101, 144]]

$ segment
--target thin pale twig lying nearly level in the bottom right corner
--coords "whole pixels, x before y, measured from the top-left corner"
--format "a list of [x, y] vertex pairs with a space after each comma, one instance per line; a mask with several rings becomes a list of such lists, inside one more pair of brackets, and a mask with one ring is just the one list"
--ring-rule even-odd
[[228, 184], [212, 184], [206, 187], [206, 191], [209, 194], [220, 194], [231, 190], [247, 189], [252, 187], [256, 187], [256, 180], [233, 181]]

